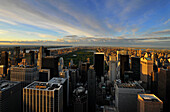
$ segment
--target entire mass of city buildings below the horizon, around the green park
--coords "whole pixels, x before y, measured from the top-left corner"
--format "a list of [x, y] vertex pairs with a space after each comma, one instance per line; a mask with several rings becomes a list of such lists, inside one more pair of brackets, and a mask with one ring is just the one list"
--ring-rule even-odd
[[79, 65], [73, 60], [64, 65], [61, 49], [55, 56], [43, 46], [38, 52], [20, 47], [1, 52], [0, 111], [170, 111], [168, 53], [95, 50], [93, 60]]

